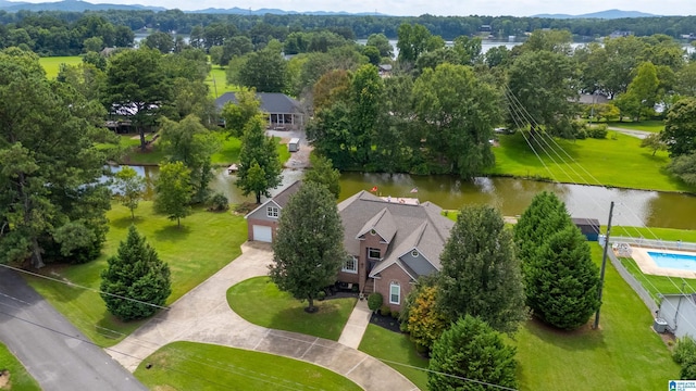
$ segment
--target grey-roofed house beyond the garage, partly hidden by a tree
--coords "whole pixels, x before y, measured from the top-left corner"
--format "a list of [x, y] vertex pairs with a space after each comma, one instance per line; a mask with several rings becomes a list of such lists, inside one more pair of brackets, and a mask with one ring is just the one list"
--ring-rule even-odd
[[[261, 102], [261, 111], [268, 115], [268, 127], [271, 129], [301, 129], [304, 126], [304, 114], [300, 103], [281, 92], [257, 92]], [[237, 104], [234, 92], [225, 92], [215, 99], [219, 110], [231, 102]]]

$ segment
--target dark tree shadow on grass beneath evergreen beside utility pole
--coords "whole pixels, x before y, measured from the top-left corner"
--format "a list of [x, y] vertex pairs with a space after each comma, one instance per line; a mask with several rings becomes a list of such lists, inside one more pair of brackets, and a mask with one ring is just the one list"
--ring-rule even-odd
[[[593, 317], [594, 319], [594, 317]], [[546, 343], [552, 344], [567, 351], [583, 351], [605, 349], [605, 338], [601, 328], [592, 328], [592, 321], [583, 325], [576, 330], [560, 330], [532, 318], [524, 326], [529, 332]]]

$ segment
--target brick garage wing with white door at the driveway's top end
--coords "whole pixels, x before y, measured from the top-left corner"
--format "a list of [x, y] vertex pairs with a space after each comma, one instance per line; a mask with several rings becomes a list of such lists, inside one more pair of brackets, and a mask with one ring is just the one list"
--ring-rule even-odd
[[248, 239], [250, 241], [272, 242], [275, 238], [275, 230], [278, 227], [278, 219], [283, 213], [283, 207], [287, 204], [290, 195], [295, 194], [302, 185], [301, 180], [283, 189], [272, 199], [262, 203], [261, 206], [249, 212], [244, 218], [247, 220]]

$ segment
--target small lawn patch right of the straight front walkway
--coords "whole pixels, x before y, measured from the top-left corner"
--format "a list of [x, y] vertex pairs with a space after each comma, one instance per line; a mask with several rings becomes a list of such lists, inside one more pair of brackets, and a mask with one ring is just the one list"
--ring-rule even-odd
[[[407, 364], [419, 368], [427, 368], [428, 360], [415, 352], [415, 345], [403, 333], [394, 332], [376, 325], [368, 325], [358, 350], [376, 358]], [[411, 380], [419, 389], [427, 390], [427, 373], [385, 362], [386, 365], [398, 370]]]

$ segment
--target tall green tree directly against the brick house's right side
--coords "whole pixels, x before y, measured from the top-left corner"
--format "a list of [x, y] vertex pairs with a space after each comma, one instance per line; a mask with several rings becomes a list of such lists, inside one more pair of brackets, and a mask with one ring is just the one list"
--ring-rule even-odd
[[526, 319], [512, 234], [490, 206], [464, 206], [440, 255], [438, 305], [450, 320], [478, 316], [512, 332]]

